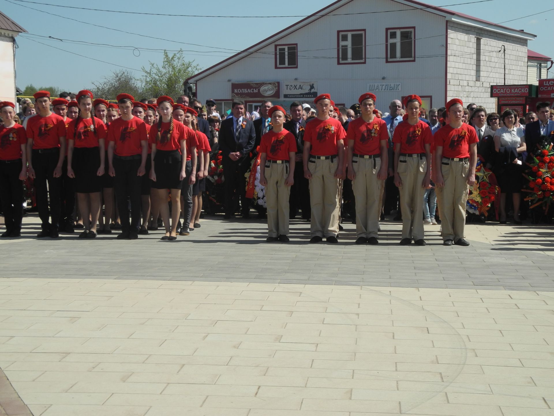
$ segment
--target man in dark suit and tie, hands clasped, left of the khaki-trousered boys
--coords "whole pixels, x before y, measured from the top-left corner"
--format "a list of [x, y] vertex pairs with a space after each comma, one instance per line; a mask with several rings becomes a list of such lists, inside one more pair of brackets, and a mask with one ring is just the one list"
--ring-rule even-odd
[[254, 124], [244, 116], [244, 102], [235, 100], [232, 104], [232, 116], [221, 122], [219, 129], [219, 148], [223, 155], [223, 175], [225, 180], [225, 219], [237, 211], [240, 197], [243, 218], [249, 217], [249, 205], [245, 197], [246, 178], [244, 174], [250, 168], [250, 151], [254, 148], [256, 133]]

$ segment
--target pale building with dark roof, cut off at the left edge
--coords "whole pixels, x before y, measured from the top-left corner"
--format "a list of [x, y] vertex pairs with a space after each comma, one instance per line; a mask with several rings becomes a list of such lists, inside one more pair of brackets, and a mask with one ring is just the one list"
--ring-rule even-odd
[[0, 100], [16, 102], [16, 36], [27, 32], [0, 12]]

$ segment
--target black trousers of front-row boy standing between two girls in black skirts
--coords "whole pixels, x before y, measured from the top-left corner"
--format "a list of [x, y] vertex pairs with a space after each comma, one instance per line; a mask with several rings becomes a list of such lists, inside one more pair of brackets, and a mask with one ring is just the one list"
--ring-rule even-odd
[[[123, 160], [114, 155], [114, 188], [117, 195], [121, 231], [124, 232], [130, 231], [131, 224], [134, 226], [140, 224], [142, 178], [137, 176], [140, 163], [140, 158]], [[129, 195], [131, 200], [131, 221], [129, 221], [127, 195]]]

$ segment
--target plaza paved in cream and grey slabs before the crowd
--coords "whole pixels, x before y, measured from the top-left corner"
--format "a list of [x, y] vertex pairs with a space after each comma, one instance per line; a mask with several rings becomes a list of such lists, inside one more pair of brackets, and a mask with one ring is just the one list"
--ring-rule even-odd
[[350, 223], [313, 245], [302, 221], [288, 244], [255, 220], [175, 242], [24, 221], [0, 241], [6, 415], [554, 415], [551, 227], [401, 247], [387, 221], [379, 246]]

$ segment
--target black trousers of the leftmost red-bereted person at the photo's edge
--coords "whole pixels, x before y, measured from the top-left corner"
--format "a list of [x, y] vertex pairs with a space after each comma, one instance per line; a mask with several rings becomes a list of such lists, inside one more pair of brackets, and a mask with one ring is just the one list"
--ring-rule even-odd
[[21, 159], [0, 160], [0, 200], [7, 231], [20, 231], [23, 218], [23, 181], [19, 180]]

